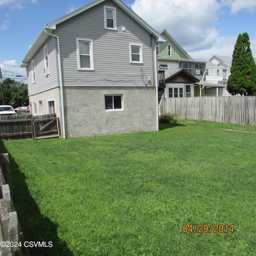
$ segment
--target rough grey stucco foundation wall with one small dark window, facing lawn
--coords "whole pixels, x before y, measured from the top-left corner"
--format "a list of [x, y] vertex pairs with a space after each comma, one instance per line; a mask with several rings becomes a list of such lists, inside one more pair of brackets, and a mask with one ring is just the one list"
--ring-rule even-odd
[[[104, 95], [122, 95], [122, 110], [105, 110]], [[66, 136], [156, 130], [154, 87], [64, 87]]]

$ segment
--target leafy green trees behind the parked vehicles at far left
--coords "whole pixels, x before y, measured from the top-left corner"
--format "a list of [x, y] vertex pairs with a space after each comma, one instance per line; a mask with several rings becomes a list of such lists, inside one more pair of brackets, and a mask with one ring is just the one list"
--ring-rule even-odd
[[[14, 79], [3, 80], [4, 104], [12, 105], [14, 108], [28, 106], [28, 85]], [[2, 104], [2, 91], [0, 91], [0, 101]]]

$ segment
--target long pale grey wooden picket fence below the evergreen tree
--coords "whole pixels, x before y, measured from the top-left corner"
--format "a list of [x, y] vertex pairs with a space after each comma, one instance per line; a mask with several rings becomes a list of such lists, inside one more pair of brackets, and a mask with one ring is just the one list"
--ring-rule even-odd
[[160, 114], [181, 119], [256, 125], [256, 96], [162, 98]]

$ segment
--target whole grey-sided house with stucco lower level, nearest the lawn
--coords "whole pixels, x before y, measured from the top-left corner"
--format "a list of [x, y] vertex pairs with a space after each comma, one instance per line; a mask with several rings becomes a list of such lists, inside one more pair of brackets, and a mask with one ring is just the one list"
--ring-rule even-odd
[[46, 25], [23, 59], [32, 114], [62, 137], [158, 129], [156, 48], [165, 39], [120, 0], [96, 0]]

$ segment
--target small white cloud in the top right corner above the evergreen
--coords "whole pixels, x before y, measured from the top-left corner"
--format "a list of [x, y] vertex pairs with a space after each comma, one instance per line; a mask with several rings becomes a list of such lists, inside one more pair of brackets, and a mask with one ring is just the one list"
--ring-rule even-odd
[[221, 2], [229, 6], [231, 13], [237, 13], [243, 9], [252, 13], [256, 9], [256, 0], [222, 0]]

